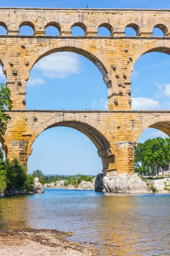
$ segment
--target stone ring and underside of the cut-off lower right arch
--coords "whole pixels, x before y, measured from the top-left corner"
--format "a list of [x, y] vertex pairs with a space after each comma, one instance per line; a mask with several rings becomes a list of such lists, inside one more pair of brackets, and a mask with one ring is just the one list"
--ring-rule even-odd
[[159, 131], [163, 131], [170, 137], [170, 115], [155, 116], [151, 119], [148, 119], [138, 128], [138, 130], [133, 135], [132, 140], [137, 141], [142, 132], [145, 131], [147, 128], [155, 128]]

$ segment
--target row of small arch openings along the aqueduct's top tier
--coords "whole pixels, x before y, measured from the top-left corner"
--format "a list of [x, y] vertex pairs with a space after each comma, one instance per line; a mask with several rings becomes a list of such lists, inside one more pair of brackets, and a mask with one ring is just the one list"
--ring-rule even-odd
[[[35, 31], [34, 24], [31, 22], [23, 22], [20, 24], [20, 35], [33, 35]], [[56, 22], [50, 22], [45, 26], [45, 35], [59, 35], [61, 32], [61, 27]], [[7, 33], [7, 26], [5, 23], [0, 22], [0, 35], [6, 35]], [[71, 35], [73, 36], [83, 36], [87, 32], [87, 27], [83, 23], [74, 23], [71, 27]], [[109, 23], [102, 23], [97, 30], [97, 35], [112, 35], [113, 27]], [[135, 23], [130, 23], [125, 27], [125, 36], [136, 36], [140, 32], [140, 28]], [[168, 29], [163, 24], [156, 24], [153, 27], [153, 36], [164, 36], [167, 35]], [[116, 34], [115, 34], [116, 35]]]

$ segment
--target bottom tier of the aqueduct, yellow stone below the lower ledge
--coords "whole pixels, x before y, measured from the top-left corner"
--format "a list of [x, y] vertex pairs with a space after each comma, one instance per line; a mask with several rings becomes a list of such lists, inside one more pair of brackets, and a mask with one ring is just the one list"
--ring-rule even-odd
[[170, 111], [48, 111], [13, 110], [3, 138], [8, 158], [17, 156], [27, 165], [37, 136], [56, 126], [75, 128], [96, 145], [103, 172], [134, 172], [134, 148], [142, 132], [159, 128], [170, 135]]

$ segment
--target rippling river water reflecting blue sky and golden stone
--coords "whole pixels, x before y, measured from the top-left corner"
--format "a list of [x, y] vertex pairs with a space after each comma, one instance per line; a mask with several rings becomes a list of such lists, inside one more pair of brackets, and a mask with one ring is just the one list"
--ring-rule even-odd
[[45, 189], [44, 194], [0, 199], [0, 228], [72, 231], [99, 256], [170, 255], [170, 194], [112, 194]]

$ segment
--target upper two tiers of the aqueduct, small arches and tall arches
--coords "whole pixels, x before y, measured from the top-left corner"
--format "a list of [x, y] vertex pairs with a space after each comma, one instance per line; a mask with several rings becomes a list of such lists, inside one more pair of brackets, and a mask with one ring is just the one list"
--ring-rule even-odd
[[[0, 64], [11, 89], [15, 109], [26, 108], [26, 82], [34, 64], [53, 52], [71, 51], [90, 59], [102, 73], [108, 90], [109, 110], [130, 110], [130, 75], [136, 60], [147, 52], [170, 53], [170, 11], [147, 9], [38, 9], [0, 8]], [[34, 29], [32, 36], [20, 36], [21, 26]], [[56, 26], [59, 36], [45, 36], [47, 26]], [[71, 36], [71, 28], [80, 26], [85, 36]], [[100, 26], [111, 35], [97, 36]], [[136, 37], [124, 36], [126, 26]], [[163, 37], [152, 37], [159, 27]]]

